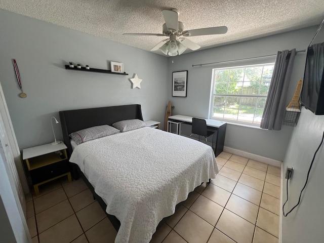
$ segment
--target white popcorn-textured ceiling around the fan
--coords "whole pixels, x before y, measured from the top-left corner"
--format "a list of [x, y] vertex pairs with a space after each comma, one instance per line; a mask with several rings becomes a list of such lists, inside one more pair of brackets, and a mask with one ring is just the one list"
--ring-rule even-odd
[[319, 25], [324, 17], [322, 0], [0, 0], [0, 8], [146, 51], [165, 37], [122, 34], [162, 33], [162, 10], [178, 9], [185, 29], [228, 27], [188, 37], [201, 49]]

